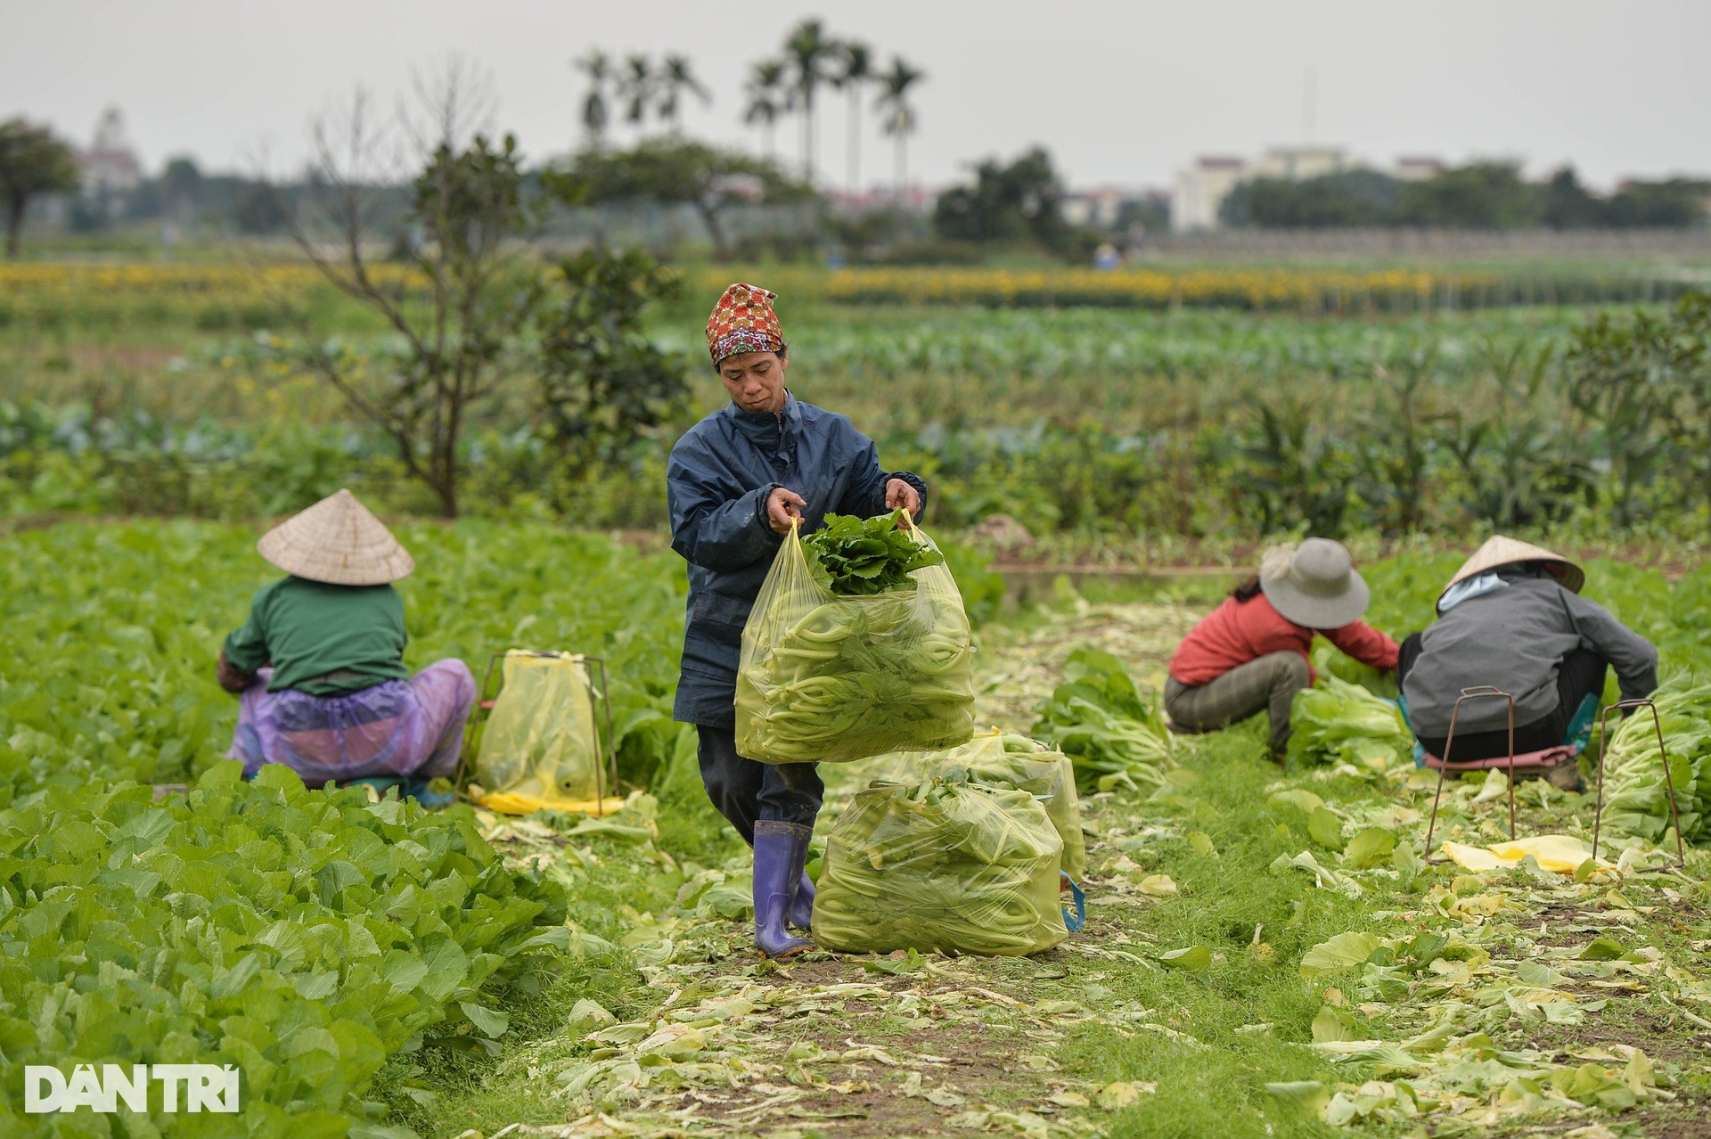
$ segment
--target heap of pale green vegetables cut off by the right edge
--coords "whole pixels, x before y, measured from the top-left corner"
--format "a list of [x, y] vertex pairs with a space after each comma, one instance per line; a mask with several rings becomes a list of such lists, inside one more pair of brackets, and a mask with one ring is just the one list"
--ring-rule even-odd
[[[1670, 756], [1675, 809], [1682, 841], [1697, 843], [1711, 833], [1711, 682], [1678, 676], [1651, 696], [1658, 705], [1663, 747]], [[1613, 717], [1612, 717], [1613, 718]], [[1658, 732], [1651, 713], [1637, 710], [1610, 732], [1603, 752], [1605, 826], [1661, 841], [1670, 828], [1670, 799], [1658, 758]]]

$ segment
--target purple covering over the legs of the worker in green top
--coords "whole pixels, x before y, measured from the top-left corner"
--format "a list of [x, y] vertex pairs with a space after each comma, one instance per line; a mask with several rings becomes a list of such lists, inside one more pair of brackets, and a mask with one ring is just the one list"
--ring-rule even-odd
[[462, 660], [436, 660], [407, 681], [385, 681], [347, 696], [267, 691], [272, 669], [243, 689], [231, 759], [245, 776], [284, 763], [310, 787], [370, 776], [431, 780], [457, 770], [476, 677]]

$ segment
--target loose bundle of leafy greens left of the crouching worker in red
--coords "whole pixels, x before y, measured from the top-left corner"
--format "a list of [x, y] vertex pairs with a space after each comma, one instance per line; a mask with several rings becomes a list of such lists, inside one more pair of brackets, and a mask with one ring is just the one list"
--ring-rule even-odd
[[1170, 730], [1158, 705], [1141, 696], [1110, 653], [1078, 648], [1064, 681], [1035, 711], [1035, 739], [1069, 756], [1081, 790], [1163, 785]]

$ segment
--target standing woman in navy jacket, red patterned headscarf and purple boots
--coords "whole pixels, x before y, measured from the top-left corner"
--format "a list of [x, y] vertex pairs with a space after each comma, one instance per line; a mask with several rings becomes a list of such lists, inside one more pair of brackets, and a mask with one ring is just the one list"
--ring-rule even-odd
[[707, 320], [707, 351], [731, 404], [671, 450], [671, 547], [690, 563], [690, 612], [674, 715], [700, 735], [707, 797], [755, 848], [755, 944], [767, 956], [809, 946], [814, 886], [802, 867], [825, 785], [813, 763], [763, 764], [736, 749], [737, 657], [761, 580], [794, 520], [828, 513], [919, 516], [927, 486], [886, 474], [873, 440], [784, 387], [789, 368], [775, 294], [734, 284]]

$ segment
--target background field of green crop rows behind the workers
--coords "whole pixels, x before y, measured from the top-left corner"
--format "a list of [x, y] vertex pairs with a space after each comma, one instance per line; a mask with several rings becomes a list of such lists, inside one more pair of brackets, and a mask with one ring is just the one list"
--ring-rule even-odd
[[[354, 352], [390, 344], [301, 267], [9, 272], [0, 516], [243, 520], [340, 486], [388, 515], [436, 508], [395, 441], [282, 352], [289, 311]], [[686, 296], [722, 287], [707, 286], [708, 272], [686, 274]], [[1261, 277], [1285, 292], [1319, 287], [1309, 269]], [[1660, 388], [1646, 376], [1668, 373], [1661, 356], [1620, 368], [1593, 351], [1607, 340], [1591, 323], [1613, 313], [1620, 332], [1632, 310], [1591, 296], [1357, 320], [1263, 306], [914, 304], [912, 294], [845, 304], [825, 296], [837, 275], [746, 279], [780, 291], [792, 390], [850, 414], [888, 462], [931, 475], [941, 528], [1004, 513], [1040, 540], [1215, 547], [1304, 530], [1699, 544], [1711, 534], [1704, 351], [1685, 352], [1678, 385]], [[1655, 318], [1673, 311], [1665, 292], [1624, 299], [1649, 301], [1637, 311]], [[464, 510], [662, 525], [669, 441], [722, 398], [698, 357], [703, 320], [688, 301], [654, 313], [691, 398], [595, 472], [542, 433], [525, 383], [506, 385], [464, 436]], [[1576, 354], [1583, 337], [1591, 347]]]

